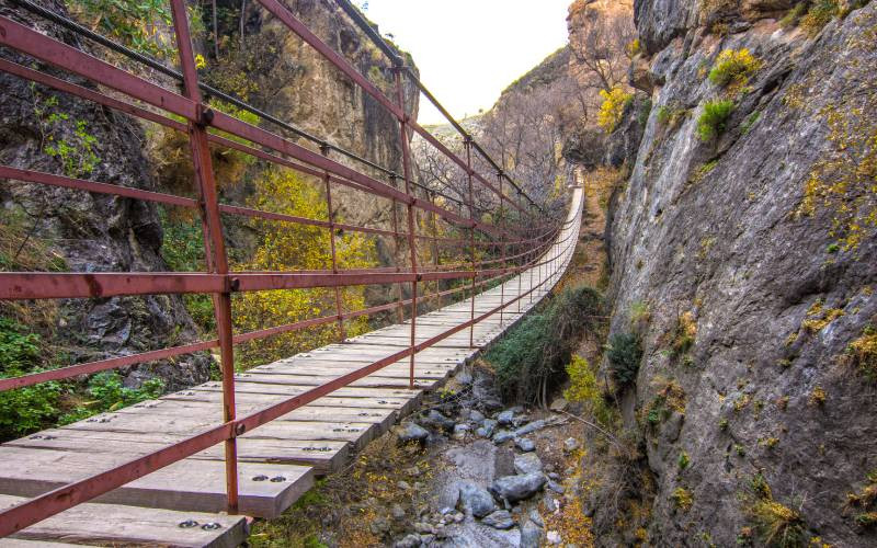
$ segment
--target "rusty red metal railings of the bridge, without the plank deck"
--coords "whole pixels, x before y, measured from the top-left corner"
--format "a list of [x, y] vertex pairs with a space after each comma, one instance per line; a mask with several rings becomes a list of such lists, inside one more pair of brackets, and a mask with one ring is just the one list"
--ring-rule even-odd
[[[394, 169], [377, 165], [369, 160], [343, 150], [341, 147], [297, 129], [292, 124], [267, 115], [220, 90], [206, 87], [198, 79], [190, 36], [190, 24], [186, 20], [185, 0], [169, 1], [173, 15], [173, 31], [180, 65], [179, 71], [169, 69], [155, 59], [127, 50], [88, 28], [77, 25], [61, 14], [41, 8], [33, 2], [16, 0], [16, 3], [31, 14], [42, 16], [50, 23], [64, 26], [68, 31], [77, 32], [98, 45], [129, 55], [135, 61], [159, 70], [172, 79], [179, 79], [182, 82], [182, 92], [166, 89], [137, 73], [111, 65], [21, 22], [4, 16], [0, 16], [0, 45], [11, 52], [16, 52], [18, 55], [24, 56], [26, 59], [31, 59], [32, 62], [38, 61], [44, 66], [53, 67], [54, 70], [53, 73], [48, 73], [48, 71], [37, 70], [29, 66], [32, 62], [22, 64], [3, 58], [0, 58], [0, 70], [53, 89], [56, 92], [70, 95], [76, 100], [100, 104], [128, 116], [187, 135], [197, 197], [125, 187], [9, 165], [0, 165], [0, 180], [65, 187], [195, 210], [201, 216], [204, 229], [206, 271], [185, 273], [2, 272], [0, 273], [0, 299], [83, 299], [123, 295], [209, 294], [213, 296], [214, 302], [217, 326], [216, 338], [13, 378], [3, 378], [0, 379], [0, 391], [166, 359], [209, 349], [219, 349], [223, 377], [223, 422], [182, 442], [55, 489], [0, 512], [0, 537], [15, 533], [45, 517], [94, 499], [159, 468], [220, 443], [225, 444], [228, 511], [237, 513], [238, 459], [236, 438], [238, 436], [401, 359], [409, 359], [410, 386], [413, 387], [414, 359], [418, 352], [464, 329], [469, 329], [470, 345], [474, 345], [475, 326], [497, 312], [500, 313], [502, 321], [503, 310], [508, 305], [516, 300], [520, 307], [520, 300], [527, 296], [532, 300], [534, 293], [538, 292], [547, 283], [547, 276], [543, 273], [557, 272], [562, 266], [562, 261], [559, 260], [576, 243], [574, 239], [569, 236], [558, 238], [562, 233], [562, 229], [574, 219], [559, 221], [547, 215], [542, 206], [531, 199], [509, 178], [508, 173], [504, 173], [499, 168], [499, 164], [475, 142], [474, 138], [447, 115], [447, 112], [441, 107], [435, 98], [429, 93], [413, 72], [399, 61], [395, 54], [391, 56], [395, 72], [396, 96], [394, 100], [360, 73], [343, 56], [314, 34], [283, 3], [277, 0], [259, 0], [267, 12], [316, 49], [323, 59], [374, 99], [398, 122], [399, 146], [402, 157], [401, 174]], [[340, 1], [339, 3], [342, 8], [346, 4], [345, 1]], [[354, 14], [353, 18], [354, 22], [361, 24], [361, 21], [356, 20], [357, 15]], [[369, 34], [369, 37], [380, 41], [383, 44], [383, 39], [379, 36], [375, 37]], [[381, 50], [394, 52], [386, 44], [383, 44]], [[84, 78], [95, 84], [100, 84], [101, 88], [73, 83], [61, 77], [54, 76], [57, 73]], [[407, 113], [403, 94], [403, 79], [406, 78], [411, 79], [415, 87], [428, 99], [433, 101], [448, 116], [448, 119], [457, 130], [460, 132], [465, 158], [460, 158], [446, 145], [429, 134]], [[105, 92], [103, 90], [110, 91]], [[262, 126], [248, 124], [237, 117], [212, 109], [202, 94], [205, 91], [212, 96], [229, 100], [232, 104], [259, 115], [265, 126], [272, 126], [273, 124], [283, 130], [293, 132], [308, 141], [307, 145], [295, 142]], [[465, 197], [448, 196], [415, 180], [409, 142], [412, 134], [420, 135], [440, 153], [444, 155], [453, 165], [456, 165], [462, 175], [465, 175], [460, 178], [460, 184], [464, 185], [462, 194]], [[292, 169], [320, 181], [328, 203], [328, 218], [304, 218], [220, 203], [214, 180], [210, 147], [236, 150], [269, 164]], [[478, 167], [472, 161], [474, 151], [479, 155], [482, 164], [492, 170], [492, 173], [485, 174], [479, 172]], [[332, 153], [340, 153], [343, 161], [332, 159]], [[361, 169], [352, 168], [351, 164], [357, 164]], [[378, 175], [374, 173], [378, 173]], [[492, 175], [497, 176], [496, 184], [490, 181]], [[401, 189], [396, 187], [398, 180], [401, 180]], [[485, 219], [482, 215], [485, 206], [476, 204], [476, 184], [492, 196], [487, 207], [498, 208], [497, 210], [501, 213], [498, 216], [499, 220], [496, 218], [491, 218], [489, 221]], [[337, 207], [333, 207], [332, 202], [334, 199], [332, 190], [339, 185], [387, 203], [392, 210], [392, 228], [339, 222], [334, 216]], [[503, 192], [504, 187], [512, 189], [511, 195]], [[444, 198], [443, 204], [436, 203], [437, 196]], [[397, 206], [401, 206], [405, 210], [405, 229], [400, 229]], [[514, 224], [508, 222], [508, 212], [514, 212], [520, 220]], [[224, 215], [324, 229], [329, 235], [331, 269], [291, 272], [234, 272], [229, 267], [226, 241], [223, 236]], [[418, 215], [429, 216], [428, 225], [431, 227], [431, 233], [424, 235], [418, 231]], [[448, 230], [463, 236], [456, 238], [437, 236], [437, 225], [440, 222], [445, 225]], [[409, 263], [407, 265], [395, 264], [386, 267], [341, 269], [339, 267], [335, 251], [335, 233], [338, 230], [358, 232], [371, 238], [391, 238], [397, 246], [400, 242], [406, 242]], [[419, 244], [421, 247], [423, 244], [432, 247], [433, 263], [431, 265], [421, 259]], [[441, 264], [440, 256], [442, 253], [438, 251], [440, 249], [443, 249], [454, 260], [451, 263]], [[479, 259], [477, 251], [480, 251], [483, 256]], [[540, 273], [536, 283], [533, 279], [534, 270], [538, 270]], [[503, 282], [515, 274], [527, 271], [531, 273], [528, 290], [522, 290], [523, 276], [519, 276], [517, 296], [506, 301]], [[442, 290], [442, 282], [458, 282], [459, 285]], [[433, 292], [419, 293], [421, 285], [429, 287], [430, 283], [434, 286]], [[500, 306], [476, 316], [475, 295], [478, 288], [496, 283], [502, 284]], [[409, 298], [403, 298], [401, 290], [403, 284], [410, 285]], [[399, 288], [398, 299], [361, 310], [345, 311], [342, 307], [340, 292], [344, 287], [364, 285], [397, 285]], [[234, 332], [231, 321], [232, 294], [294, 288], [332, 288], [334, 290], [335, 313], [269, 327], [258, 331]], [[417, 316], [423, 300], [437, 299], [441, 302], [441, 299], [458, 294], [462, 294], [463, 297], [469, 294], [471, 300], [469, 320], [448, 329], [444, 333], [417, 343]], [[328, 324], [338, 326], [338, 336], [343, 342], [345, 339], [344, 321], [392, 310], [397, 310], [400, 317], [403, 317], [403, 312], [408, 310], [411, 319], [410, 344], [408, 347], [294, 398], [246, 416], [237, 416], [234, 377], [235, 345], [275, 336], [281, 333]]]

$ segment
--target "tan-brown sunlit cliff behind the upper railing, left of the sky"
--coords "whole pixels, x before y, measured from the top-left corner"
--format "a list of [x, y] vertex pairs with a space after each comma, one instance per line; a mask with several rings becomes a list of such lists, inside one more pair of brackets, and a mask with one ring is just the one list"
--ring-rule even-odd
[[[286, 4], [311, 32], [396, 101], [391, 62], [338, 3], [295, 0]], [[377, 101], [255, 2], [250, 2], [247, 10], [244, 35], [244, 53], [237, 56], [236, 65], [250, 79], [254, 90], [250, 99], [255, 105], [332, 145], [402, 172], [399, 124]], [[408, 65], [417, 71], [410, 56], [402, 52], [400, 55], [406, 56]], [[248, 67], [255, 70], [250, 71]], [[419, 91], [405, 77], [402, 83], [406, 110], [417, 119]], [[368, 170], [341, 155], [330, 156], [356, 169]], [[381, 175], [383, 179], [386, 176]], [[338, 193], [340, 213], [349, 221], [387, 220], [388, 208], [384, 201], [345, 187], [339, 187]]]

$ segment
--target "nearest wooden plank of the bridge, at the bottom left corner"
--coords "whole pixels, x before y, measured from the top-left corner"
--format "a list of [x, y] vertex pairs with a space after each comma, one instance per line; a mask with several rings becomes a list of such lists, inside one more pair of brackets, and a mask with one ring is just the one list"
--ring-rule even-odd
[[[26, 499], [0, 494], [0, 509], [14, 506]], [[180, 524], [197, 522], [192, 527]], [[204, 528], [216, 524], [216, 528]], [[117, 504], [86, 503], [47, 517], [20, 530], [14, 538], [0, 539], [2, 548], [57, 548], [95, 545], [147, 545], [236, 548], [247, 538], [243, 516], [175, 512]], [[50, 543], [59, 539], [76, 545]]]

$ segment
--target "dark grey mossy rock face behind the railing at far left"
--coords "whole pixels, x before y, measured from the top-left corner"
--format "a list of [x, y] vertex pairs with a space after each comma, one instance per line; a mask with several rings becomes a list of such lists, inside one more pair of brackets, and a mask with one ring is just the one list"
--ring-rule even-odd
[[[50, 9], [64, 12], [62, 2], [49, 4]], [[83, 47], [76, 36], [25, 15], [9, 2], [0, 2], [0, 13]], [[32, 64], [10, 50], [0, 55], [25, 66]], [[65, 78], [91, 87], [84, 79]], [[144, 133], [127, 116], [42, 85], [31, 85], [5, 72], [0, 73], [0, 88], [3, 89], [0, 99], [3, 164], [157, 190], [143, 153]], [[151, 204], [14, 181], [0, 185], [0, 201], [4, 235], [24, 235], [15, 239], [20, 252], [3, 256], [4, 270], [20, 270], [19, 259], [41, 244], [50, 250], [48, 256], [57, 260], [37, 260], [25, 267], [71, 272], [168, 270], [160, 254], [162, 229]], [[48, 320], [50, 324], [30, 327], [56, 332], [73, 362], [145, 352], [196, 335], [189, 313], [175, 296], [68, 300], [60, 309], [53, 310]], [[209, 359], [190, 356], [175, 364], [156, 364], [150, 369], [163, 377], [170, 388], [182, 387], [206, 379]], [[137, 374], [132, 380], [135, 378]]]

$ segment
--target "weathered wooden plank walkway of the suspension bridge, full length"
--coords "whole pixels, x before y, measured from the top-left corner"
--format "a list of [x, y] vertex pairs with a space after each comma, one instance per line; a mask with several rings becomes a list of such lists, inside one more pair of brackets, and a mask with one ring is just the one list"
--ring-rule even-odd
[[[415, 388], [409, 388], [405, 358], [335, 390], [238, 438], [240, 511], [274, 517], [314, 484], [315, 476], [338, 470], [351, 452], [365, 446], [420, 404], [499, 338], [550, 292], [572, 258], [583, 203], [573, 191], [567, 228], [556, 246], [558, 269], [533, 269], [476, 296], [476, 316], [535, 289], [500, 315], [475, 326], [475, 347], [464, 329], [419, 352]], [[520, 293], [519, 293], [520, 292]], [[504, 299], [503, 299], [504, 295]], [[532, 298], [531, 298], [532, 297]], [[417, 342], [444, 333], [470, 318], [469, 299], [417, 318]], [[239, 415], [284, 401], [364, 367], [410, 344], [410, 321], [330, 344], [236, 376]], [[0, 445], [0, 507], [14, 505], [65, 483], [155, 452], [216, 425], [221, 386], [205, 383], [157, 400], [103, 413]], [[0, 547], [50, 546], [49, 541], [150, 546], [237, 546], [246, 538], [240, 516], [225, 510], [223, 446], [162, 468], [39, 524]], [[194, 525], [193, 525], [194, 524]], [[36, 543], [38, 541], [38, 543]]]

